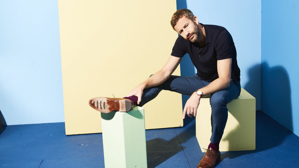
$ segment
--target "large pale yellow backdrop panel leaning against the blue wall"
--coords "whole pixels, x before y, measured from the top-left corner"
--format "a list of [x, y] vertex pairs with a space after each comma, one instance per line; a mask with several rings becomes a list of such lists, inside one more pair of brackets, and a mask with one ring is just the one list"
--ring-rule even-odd
[[[170, 26], [176, 0], [58, 5], [66, 134], [101, 132], [100, 112], [88, 100], [124, 97], [163, 67], [177, 38]], [[183, 125], [180, 94], [161, 91], [143, 107], [146, 129]]]

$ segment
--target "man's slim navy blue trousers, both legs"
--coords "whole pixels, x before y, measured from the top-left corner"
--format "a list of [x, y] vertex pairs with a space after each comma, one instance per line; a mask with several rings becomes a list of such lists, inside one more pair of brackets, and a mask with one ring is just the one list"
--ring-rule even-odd
[[[180, 94], [191, 95], [197, 89], [200, 89], [208, 84], [210, 84], [210, 82], [201, 80], [197, 74], [190, 77], [171, 75], [170, 78], [161, 85], [144, 89], [139, 106], [143, 106], [145, 103], [157, 97], [161, 90], [169, 90]], [[216, 143], [221, 140], [228, 116], [228, 109], [226, 105], [235, 98], [239, 97], [240, 92], [240, 82], [231, 80], [228, 88], [211, 94], [210, 105], [212, 108], [212, 136], [210, 141], [212, 143]]]

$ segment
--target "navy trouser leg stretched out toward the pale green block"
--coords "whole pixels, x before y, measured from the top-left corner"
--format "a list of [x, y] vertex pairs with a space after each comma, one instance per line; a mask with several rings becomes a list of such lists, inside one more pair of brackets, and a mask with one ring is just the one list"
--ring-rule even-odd
[[191, 95], [195, 90], [202, 88], [208, 84], [209, 82], [201, 80], [197, 75], [190, 77], [171, 75], [161, 85], [144, 89], [139, 106], [143, 106], [150, 100], [157, 97], [161, 90], [169, 90], [175, 91], [180, 94]]

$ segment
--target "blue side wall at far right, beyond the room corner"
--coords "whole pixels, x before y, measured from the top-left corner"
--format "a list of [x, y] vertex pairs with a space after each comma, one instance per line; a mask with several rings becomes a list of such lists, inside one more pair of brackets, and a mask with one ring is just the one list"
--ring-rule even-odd
[[262, 1], [262, 111], [299, 136], [299, 1]]

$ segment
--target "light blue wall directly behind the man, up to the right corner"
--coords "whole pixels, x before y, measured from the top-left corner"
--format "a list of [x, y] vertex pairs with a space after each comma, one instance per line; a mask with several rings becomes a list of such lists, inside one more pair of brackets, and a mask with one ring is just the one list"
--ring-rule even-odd
[[[241, 87], [256, 98], [256, 109], [261, 106], [261, 0], [177, 0], [177, 9], [190, 9], [199, 22], [225, 27], [232, 35], [241, 70]], [[185, 58], [186, 57], [186, 58]], [[194, 75], [189, 57], [184, 56], [181, 75]], [[192, 68], [190, 68], [192, 67]], [[183, 96], [183, 104], [187, 100]]]

